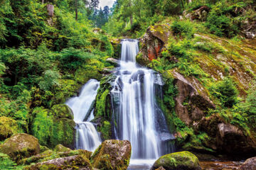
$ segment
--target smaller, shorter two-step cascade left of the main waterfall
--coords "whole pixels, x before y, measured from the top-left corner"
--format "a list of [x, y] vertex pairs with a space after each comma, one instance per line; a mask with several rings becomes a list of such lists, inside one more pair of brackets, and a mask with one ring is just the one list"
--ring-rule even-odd
[[76, 149], [93, 151], [102, 142], [100, 133], [97, 132], [95, 126], [90, 123], [90, 120], [94, 118], [92, 103], [95, 101], [99, 87], [100, 82], [91, 79], [82, 87], [82, 91], [78, 97], [70, 98], [70, 100], [66, 102], [74, 113], [74, 121], [76, 124]]

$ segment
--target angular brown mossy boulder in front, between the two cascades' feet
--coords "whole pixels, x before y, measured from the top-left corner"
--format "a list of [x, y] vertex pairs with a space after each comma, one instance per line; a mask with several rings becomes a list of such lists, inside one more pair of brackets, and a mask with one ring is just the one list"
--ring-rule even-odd
[[127, 140], [105, 140], [92, 155], [96, 169], [127, 169], [132, 147]]

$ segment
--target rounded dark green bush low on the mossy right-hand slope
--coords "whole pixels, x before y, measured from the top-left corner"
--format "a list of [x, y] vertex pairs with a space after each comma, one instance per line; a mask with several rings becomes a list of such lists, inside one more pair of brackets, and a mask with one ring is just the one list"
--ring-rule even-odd
[[218, 81], [213, 84], [210, 90], [224, 107], [232, 108], [238, 103], [238, 89], [236, 89], [232, 79], [225, 78], [223, 81]]

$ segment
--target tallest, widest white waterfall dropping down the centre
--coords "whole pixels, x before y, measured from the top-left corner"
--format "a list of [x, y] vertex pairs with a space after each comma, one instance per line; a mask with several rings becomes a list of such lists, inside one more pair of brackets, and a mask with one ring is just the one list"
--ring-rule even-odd
[[156, 103], [156, 96], [161, 97], [161, 76], [137, 66], [138, 52], [137, 40], [122, 40], [120, 67], [111, 91], [114, 133], [117, 139], [131, 142], [131, 162], [138, 159], [154, 162], [171, 152], [166, 143], [174, 137]]

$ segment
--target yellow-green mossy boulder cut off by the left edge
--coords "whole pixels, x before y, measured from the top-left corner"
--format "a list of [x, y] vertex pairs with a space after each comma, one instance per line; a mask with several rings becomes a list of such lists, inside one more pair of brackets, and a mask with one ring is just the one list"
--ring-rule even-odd
[[18, 132], [16, 120], [7, 117], [0, 117], [0, 141], [11, 137]]

